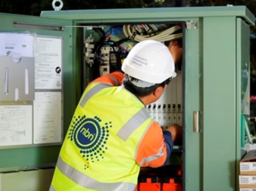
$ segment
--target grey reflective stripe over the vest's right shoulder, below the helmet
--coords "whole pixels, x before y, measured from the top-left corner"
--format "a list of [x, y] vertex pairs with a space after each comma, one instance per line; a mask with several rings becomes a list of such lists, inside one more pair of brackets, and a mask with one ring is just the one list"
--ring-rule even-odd
[[[143, 124], [150, 117], [149, 113], [143, 107], [139, 112], [137, 112], [124, 126], [117, 132], [117, 135], [126, 141], [128, 137]], [[152, 121], [152, 120], [151, 120]], [[151, 122], [150, 122], [151, 123]]]

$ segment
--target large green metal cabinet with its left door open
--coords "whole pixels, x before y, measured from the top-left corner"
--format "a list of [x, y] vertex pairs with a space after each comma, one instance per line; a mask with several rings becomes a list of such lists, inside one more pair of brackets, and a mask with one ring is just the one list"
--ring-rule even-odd
[[[254, 15], [245, 6], [42, 11], [40, 18], [7, 14], [0, 18], [1, 31], [27, 30], [63, 37], [64, 135], [85, 86], [83, 81], [91, 78], [83, 61], [83, 29], [130, 23], [182, 24], [183, 189], [239, 190], [241, 115], [248, 114], [244, 109], [249, 104], [248, 93], [244, 91], [249, 77], [245, 75], [250, 63], [249, 28], [254, 25]], [[22, 25], [15, 27], [13, 22]], [[60, 30], [47, 26], [59, 26]], [[54, 163], [59, 148], [2, 149], [0, 167]], [[18, 160], [13, 158], [15, 153], [25, 155]]]

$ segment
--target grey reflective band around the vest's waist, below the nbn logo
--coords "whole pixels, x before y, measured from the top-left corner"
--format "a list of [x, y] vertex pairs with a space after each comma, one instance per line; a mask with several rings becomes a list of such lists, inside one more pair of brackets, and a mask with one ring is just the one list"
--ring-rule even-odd
[[[116, 183], [102, 183], [98, 182], [89, 176], [84, 175], [83, 173], [77, 171], [73, 167], [69, 166], [65, 163], [62, 158], [59, 156], [58, 162], [56, 164], [59, 171], [63, 173], [65, 176], [79, 184], [80, 186], [87, 189], [95, 189], [98, 191], [134, 191], [136, 188], [136, 184], [128, 183], [128, 182], [116, 182]], [[57, 180], [58, 181], [58, 180]], [[52, 190], [54, 189], [52, 188]]]

